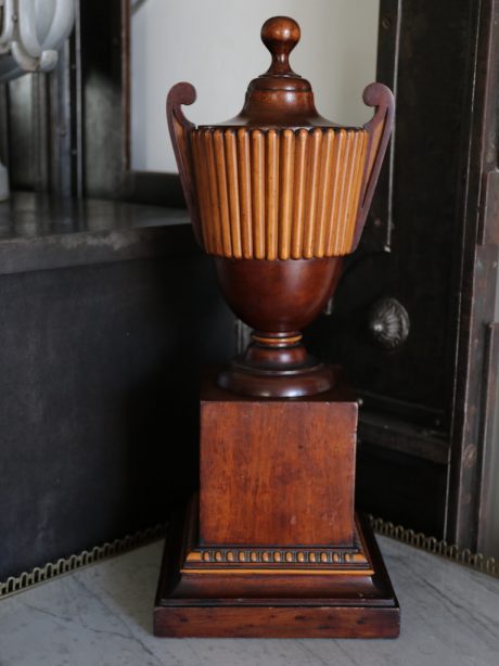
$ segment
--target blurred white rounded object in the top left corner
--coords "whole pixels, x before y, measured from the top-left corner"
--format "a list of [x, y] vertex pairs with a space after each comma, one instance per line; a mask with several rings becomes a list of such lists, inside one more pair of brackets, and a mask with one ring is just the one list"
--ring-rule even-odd
[[0, 80], [49, 72], [75, 23], [74, 0], [0, 0]]

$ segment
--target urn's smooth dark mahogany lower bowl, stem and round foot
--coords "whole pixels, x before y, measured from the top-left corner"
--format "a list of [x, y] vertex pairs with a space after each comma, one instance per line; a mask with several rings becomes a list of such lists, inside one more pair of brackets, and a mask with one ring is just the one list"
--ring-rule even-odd
[[331, 388], [333, 373], [306, 354], [299, 331], [325, 307], [342, 259], [216, 257], [215, 268], [227, 303], [255, 329], [254, 342], [221, 373], [220, 385], [245, 395], [292, 398]]

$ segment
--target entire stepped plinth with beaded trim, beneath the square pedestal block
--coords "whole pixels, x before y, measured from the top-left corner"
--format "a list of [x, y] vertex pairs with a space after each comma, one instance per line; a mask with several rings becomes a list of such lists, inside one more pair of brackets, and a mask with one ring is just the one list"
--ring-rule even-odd
[[210, 548], [195, 543], [196, 514], [194, 501], [167, 536], [156, 636], [398, 636], [398, 602], [366, 521], [353, 548]]

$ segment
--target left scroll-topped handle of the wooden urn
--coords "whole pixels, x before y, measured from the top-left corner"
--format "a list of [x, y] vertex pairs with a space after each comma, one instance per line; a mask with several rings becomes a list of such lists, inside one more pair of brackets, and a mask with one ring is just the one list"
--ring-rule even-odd
[[175, 158], [179, 168], [180, 183], [182, 185], [185, 203], [191, 216], [192, 228], [197, 243], [203, 246], [200, 215], [194, 189], [194, 176], [190, 164], [189, 135], [195, 127], [188, 120], [181, 110], [182, 104], [189, 106], [196, 99], [194, 86], [187, 82], [177, 84], [171, 88], [166, 98], [166, 119], [174, 146]]

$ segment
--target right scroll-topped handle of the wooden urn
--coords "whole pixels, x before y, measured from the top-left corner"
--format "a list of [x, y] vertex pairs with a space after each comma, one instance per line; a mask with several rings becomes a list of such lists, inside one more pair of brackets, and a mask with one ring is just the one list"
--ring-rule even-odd
[[363, 126], [369, 133], [368, 158], [366, 161], [362, 179], [353, 251], [357, 247], [363, 226], [366, 225], [395, 116], [395, 100], [393, 92], [383, 84], [370, 84], [364, 89], [362, 99], [368, 106], [375, 106], [376, 113], [371, 120]]

